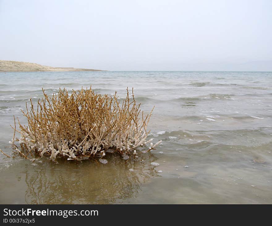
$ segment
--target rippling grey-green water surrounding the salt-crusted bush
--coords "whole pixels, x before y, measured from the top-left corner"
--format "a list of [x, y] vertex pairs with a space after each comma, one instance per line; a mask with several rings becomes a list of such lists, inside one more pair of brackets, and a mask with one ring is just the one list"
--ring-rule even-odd
[[107, 164], [0, 154], [0, 203], [272, 203], [272, 72], [0, 72], [0, 79], [7, 154], [13, 115], [25, 123], [20, 109], [41, 98], [41, 88], [52, 95], [92, 85], [121, 100], [134, 87], [145, 113], [155, 105], [150, 138], [163, 141], [127, 163], [114, 154]]

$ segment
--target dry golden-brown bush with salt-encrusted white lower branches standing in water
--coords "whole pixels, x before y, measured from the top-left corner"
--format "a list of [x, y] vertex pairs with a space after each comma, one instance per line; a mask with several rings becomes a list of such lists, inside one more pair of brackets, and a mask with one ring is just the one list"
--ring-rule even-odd
[[[66, 89], [59, 89], [52, 98], [44, 89], [43, 94], [36, 109], [30, 99], [30, 109], [22, 111], [28, 119], [27, 126], [18, 120], [19, 129], [16, 129], [14, 119], [10, 144], [24, 158], [44, 155], [53, 160], [57, 156], [67, 160], [100, 158], [105, 163], [106, 152], [120, 153], [124, 159], [132, 154], [135, 158], [136, 149], [152, 141], [146, 141], [151, 113], [143, 115], [140, 104], [135, 102], [133, 89], [132, 98], [127, 89], [122, 103], [116, 92], [112, 97], [97, 94], [91, 88], [73, 90], [70, 95]], [[15, 131], [20, 133], [19, 139], [15, 138]], [[19, 141], [20, 147], [15, 141]], [[148, 151], [160, 142], [150, 143]]]

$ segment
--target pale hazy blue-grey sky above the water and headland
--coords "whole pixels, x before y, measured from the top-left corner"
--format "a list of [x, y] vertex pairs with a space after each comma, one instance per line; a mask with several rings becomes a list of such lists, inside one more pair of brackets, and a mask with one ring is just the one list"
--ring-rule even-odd
[[0, 59], [104, 70], [272, 70], [271, 12], [270, 0], [0, 0]]

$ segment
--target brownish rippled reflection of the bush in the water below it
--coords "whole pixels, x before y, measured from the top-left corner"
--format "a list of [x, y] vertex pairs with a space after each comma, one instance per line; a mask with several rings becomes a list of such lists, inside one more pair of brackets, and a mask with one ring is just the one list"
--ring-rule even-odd
[[[140, 161], [144, 158], [143, 161]], [[25, 171], [28, 204], [111, 204], [116, 199], [136, 198], [141, 184], [156, 176], [150, 162], [152, 154], [141, 154], [136, 161], [125, 163], [112, 155], [107, 164], [91, 160], [81, 163], [58, 159], [59, 164], [43, 159]], [[131, 172], [129, 169], [134, 168]]]

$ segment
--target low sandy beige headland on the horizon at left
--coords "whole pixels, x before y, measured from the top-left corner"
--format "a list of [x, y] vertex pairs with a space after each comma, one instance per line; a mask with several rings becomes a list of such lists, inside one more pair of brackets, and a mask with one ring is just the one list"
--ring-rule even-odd
[[11, 60], [0, 60], [0, 71], [2, 72], [70, 72], [70, 71], [102, 71], [96, 69], [74, 68], [74, 67], [50, 67], [37, 63], [28, 63]]

